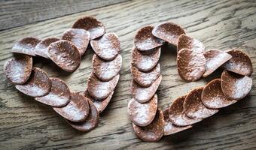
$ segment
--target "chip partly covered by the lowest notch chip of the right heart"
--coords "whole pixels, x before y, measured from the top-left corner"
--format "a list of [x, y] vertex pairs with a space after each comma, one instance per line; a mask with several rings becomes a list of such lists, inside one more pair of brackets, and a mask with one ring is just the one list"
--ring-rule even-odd
[[181, 49], [191, 49], [197, 52], [204, 52], [205, 46], [200, 40], [181, 34], [178, 37], [177, 52]]

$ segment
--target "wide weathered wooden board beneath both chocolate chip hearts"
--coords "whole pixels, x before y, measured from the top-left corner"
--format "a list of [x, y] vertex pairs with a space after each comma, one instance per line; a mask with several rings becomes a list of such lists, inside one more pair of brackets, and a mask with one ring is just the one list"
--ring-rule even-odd
[[[72, 6], [72, 5], [71, 5]], [[37, 6], [35, 6], [37, 7]], [[2, 11], [2, 9], [1, 9]], [[71, 10], [66, 10], [71, 11]], [[80, 11], [80, 10], [78, 10]], [[48, 12], [50, 13], [50, 12]], [[75, 10], [73, 11], [75, 13]], [[2, 18], [6, 14], [2, 13]], [[40, 18], [38, 14], [34, 14]], [[123, 68], [120, 83], [107, 110], [100, 116], [99, 127], [89, 133], [81, 133], [54, 111], [32, 98], [17, 92], [3, 73], [3, 65], [14, 42], [22, 37], [59, 37], [79, 17], [98, 18], [107, 31], [114, 31], [121, 41]], [[11, 16], [8, 20], [11, 20]], [[24, 20], [27, 20], [26, 14]], [[187, 34], [205, 43], [207, 49], [245, 49], [256, 71], [256, 1], [126, 1], [81, 13], [56, 17], [38, 23], [0, 31], [0, 149], [253, 149], [256, 148], [256, 74], [252, 74], [250, 94], [233, 106], [222, 109], [216, 115], [173, 136], [165, 136], [160, 142], [142, 142], [133, 133], [126, 107], [130, 95], [130, 59], [136, 30], [146, 25], [164, 21], [178, 23]], [[1, 23], [4, 23], [1, 20]], [[4, 23], [5, 24], [5, 23]], [[7, 25], [16, 26], [16, 25]], [[4, 27], [6, 28], [6, 24]], [[50, 77], [65, 80], [73, 91], [84, 91], [91, 68], [93, 52], [89, 49], [80, 68], [73, 74], [60, 71], [53, 63], [36, 59], [35, 66], [47, 71]], [[219, 77], [221, 71], [194, 83], [184, 83], [175, 63], [175, 49], [162, 50], [160, 64], [163, 81], [157, 94], [159, 107], [167, 107], [175, 98], [191, 89], [205, 85]]]

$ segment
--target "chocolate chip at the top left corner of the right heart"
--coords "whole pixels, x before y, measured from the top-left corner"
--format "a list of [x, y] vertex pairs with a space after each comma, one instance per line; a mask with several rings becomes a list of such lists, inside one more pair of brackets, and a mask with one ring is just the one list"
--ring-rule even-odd
[[162, 46], [164, 41], [152, 34], [154, 26], [145, 26], [137, 31], [134, 37], [134, 44], [137, 49], [147, 51]]

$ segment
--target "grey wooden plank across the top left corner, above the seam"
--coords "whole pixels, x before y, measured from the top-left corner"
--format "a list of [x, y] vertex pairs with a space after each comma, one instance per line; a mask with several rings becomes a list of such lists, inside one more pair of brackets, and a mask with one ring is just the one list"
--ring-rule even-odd
[[123, 1], [127, 0], [2, 0], [0, 1], [0, 30], [114, 5]]

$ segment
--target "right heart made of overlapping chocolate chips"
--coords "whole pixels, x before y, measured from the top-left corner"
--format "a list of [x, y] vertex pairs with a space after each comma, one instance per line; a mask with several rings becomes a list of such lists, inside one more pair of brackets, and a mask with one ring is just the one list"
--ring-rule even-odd
[[[212, 80], [205, 87], [177, 98], [166, 110], [157, 108], [157, 89], [160, 86], [160, 51], [163, 44], [177, 47], [177, 68], [186, 82], [207, 77], [224, 68], [221, 79]], [[164, 135], [186, 130], [245, 98], [251, 90], [251, 59], [239, 49], [221, 51], [209, 49], [200, 40], [189, 37], [174, 23], [140, 28], [134, 38], [131, 72], [133, 98], [128, 103], [128, 114], [133, 130], [140, 139], [157, 142]]]

